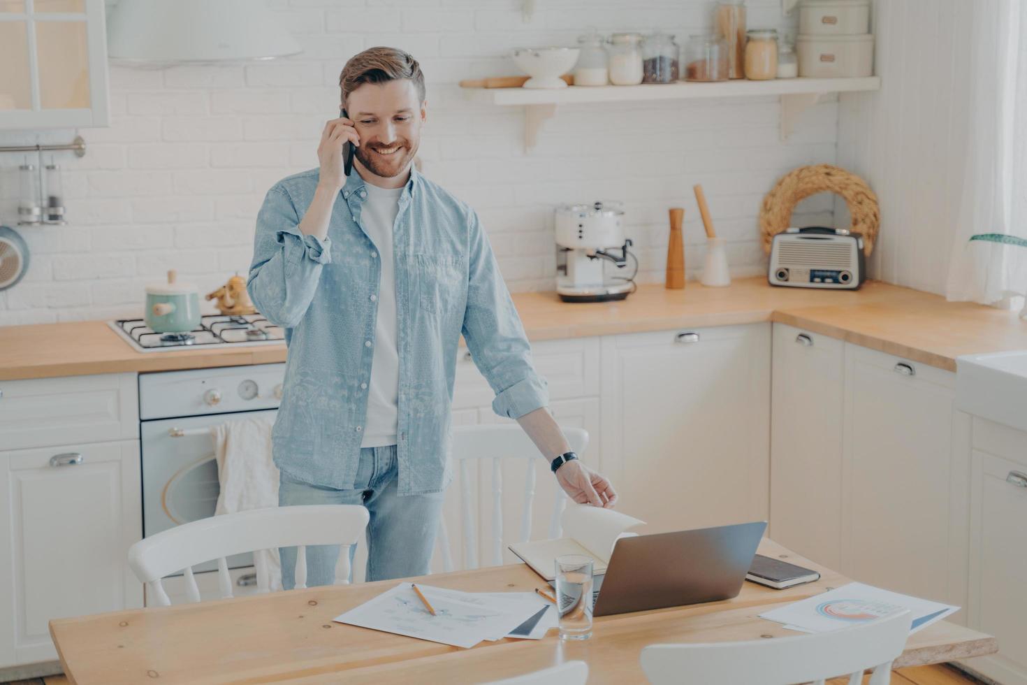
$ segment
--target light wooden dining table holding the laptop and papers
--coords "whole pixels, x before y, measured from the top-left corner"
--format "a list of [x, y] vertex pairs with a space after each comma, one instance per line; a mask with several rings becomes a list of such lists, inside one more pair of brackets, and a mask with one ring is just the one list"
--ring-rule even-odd
[[[224, 683], [487, 683], [581, 659], [589, 683], [645, 683], [639, 654], [657, 643], [774, 640], [800, 635], [758, 614], [849, 579], [764, 539], [760, 554], [821, 572], [816, 582], [771, 589], [744, 582], [721, 602], [601, 616], [593, 636], [504, 639], [471, 649], [333, 621], [396, 580], [310, 587], [50, 621], [68, 679], [78, 685]], [[525, 592], [544, 584], [516, 564], [435, 574], [424, 584], [467, 592]], [[959, 614], [954, 615], [958, 618]], [[909, 637], [895, 668], [982, 656], [993, 637], [939, 621]]]

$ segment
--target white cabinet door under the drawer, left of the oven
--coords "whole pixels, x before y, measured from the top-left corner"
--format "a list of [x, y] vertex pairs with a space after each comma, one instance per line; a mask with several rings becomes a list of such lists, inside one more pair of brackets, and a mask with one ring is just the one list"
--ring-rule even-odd
[[143, 605], [137, 441], [0, 452], [0, 667], [56, 658], [51, 618]]

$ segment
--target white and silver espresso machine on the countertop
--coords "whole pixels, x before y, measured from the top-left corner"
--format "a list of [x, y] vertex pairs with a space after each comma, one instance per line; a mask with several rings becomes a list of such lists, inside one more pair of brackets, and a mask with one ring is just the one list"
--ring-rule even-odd
[[[623, 300], [635, 292], [638, 259], [624, 237], [624, 211], [618, 202], [561, 204], [556, 210], [557, 294], [564, 302]], [[634, 262], [631, 275], [607, 275]]]

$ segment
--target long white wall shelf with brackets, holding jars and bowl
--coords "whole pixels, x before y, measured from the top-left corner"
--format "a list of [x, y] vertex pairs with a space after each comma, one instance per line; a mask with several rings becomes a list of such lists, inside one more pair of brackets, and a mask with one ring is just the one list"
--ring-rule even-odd
[[525, 146], [533, 148], [541, 125], [556, 115], [560, 105], [626, 103], [698, 98], [781, 98], [781, 136], [788, 138], [796, 118], [834, 92], [878, 90], [879, 76], [862, 78], [789, 78], [770, 81], [723, 81], [719, 83], [664, 83], [645, 85], [569, 86], [557, 89], [465, 88], [465, 97], [500, 107], [525, 107]]

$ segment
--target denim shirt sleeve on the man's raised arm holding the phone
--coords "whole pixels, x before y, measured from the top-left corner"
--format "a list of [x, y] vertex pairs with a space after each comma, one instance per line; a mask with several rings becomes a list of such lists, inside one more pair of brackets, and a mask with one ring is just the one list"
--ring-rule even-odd
[[292, 198], [275, 186], [257, 215], [254, 259], [246, 290], [272, 324], [295, 328], [306, 313], [321, 268], [332, 261], [331, 239], [304, 235]]

